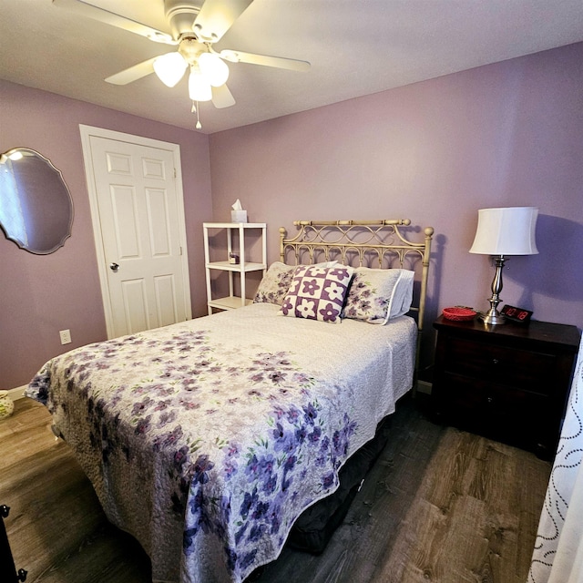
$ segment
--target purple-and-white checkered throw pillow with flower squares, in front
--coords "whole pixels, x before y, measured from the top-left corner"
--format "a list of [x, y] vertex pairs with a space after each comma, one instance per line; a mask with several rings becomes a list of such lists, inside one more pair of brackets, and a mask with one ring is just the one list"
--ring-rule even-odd
[[344, 265], [302, 265], [281, 304], [281, 313], [292, 318], [340, 323], [353, 268]]

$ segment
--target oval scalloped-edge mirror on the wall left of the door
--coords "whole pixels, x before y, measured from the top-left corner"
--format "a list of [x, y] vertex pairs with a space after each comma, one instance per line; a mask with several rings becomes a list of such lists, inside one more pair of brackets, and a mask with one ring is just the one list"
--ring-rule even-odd
[[73, 200], [59, 169], [30, 148], [0, 155], [0, 227], [31, 253], [52, 253], [73, 225]]

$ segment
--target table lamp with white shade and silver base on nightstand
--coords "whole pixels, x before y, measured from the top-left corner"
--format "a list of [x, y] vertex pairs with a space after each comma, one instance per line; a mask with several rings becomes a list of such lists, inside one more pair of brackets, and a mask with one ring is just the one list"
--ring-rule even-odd
[[492, 281], [490, 309], [480, 316], [486, 324], [503, 324], [505, 317], [498, 312], [501, 302], [502, 268], [508, 255], [534, 255], [538, 252], [535, 241], [538, 209], [534, 207], [507, 207], [477, 211], [476, 239], [470, 253], [491, 255], [496, 264]]

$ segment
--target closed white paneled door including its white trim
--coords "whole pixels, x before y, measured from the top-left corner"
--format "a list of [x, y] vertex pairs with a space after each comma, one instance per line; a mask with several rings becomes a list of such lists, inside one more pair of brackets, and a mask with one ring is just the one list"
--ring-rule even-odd
[[188, 320], [179, 147], [96, 130], [81, 127], [107, 335]]

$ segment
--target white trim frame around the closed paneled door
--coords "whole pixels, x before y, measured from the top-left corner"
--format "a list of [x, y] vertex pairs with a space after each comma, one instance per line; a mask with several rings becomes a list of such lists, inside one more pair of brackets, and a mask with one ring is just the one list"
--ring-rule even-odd
[[180, 241], [180, 260], [182, 265], [183, 292], [185, 302], [185, 313], [188, 320], [192, 318], [192, 305], [190, 302], [190, 278], [189, 278], [189, 255], [186, 238], [186, 215], [184, 212], [184, 190], [182, 189], [182, 168], [180, 166], [180, 147], [178, 144], [160, 141], [153, 138], [143, 138], [142, 136], [133, 136], [114, 131], [112, 129], [94, 128], [79, 124], [81, 133], [81, 146], [83, 148], [83, 162], [85, 166], [85, 178], [87, 181], [87, 194], [89, 195], [89, 208], [91, 210], [91, 223], [93, 225], [93, 238], [95, 240], [95, 249], [97, 252], [97, 271], [99, 273], [99, 285], [101, 287], [101, 298], [103, 309], [106, 316], [107, 339], [114, 337], [113, 311], [111, 308], [111, 299], [109, 297], [109, 285], [107, 283], [107, 265], [106, 254], [103, 248], [103, 238], [101, 236], [101, 220], [99, 218], [99, 207], [97, 203], [97, 185], [95, 181], [95, 171], [93, 167], [93, 158], [91, 156], [91, 138], [107, 138], [138, 146], [148, 148], [166, 149], [172, 152], [174, 162], [174, 179], [177, 194], [177, 204], [179, 211], [179, 241]]

